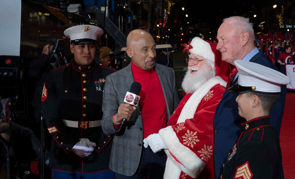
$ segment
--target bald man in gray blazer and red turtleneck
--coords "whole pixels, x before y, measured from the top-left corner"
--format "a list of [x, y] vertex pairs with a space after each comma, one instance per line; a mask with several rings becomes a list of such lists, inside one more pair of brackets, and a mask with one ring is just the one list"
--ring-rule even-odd
[[[165, 153], [143, 147], [143, 139], [166, 127], [179, 103], [174, 71], [155, 64], [155, 42], [148, 32], [133, 30], [126, 46], [131, 63], [109, 75], [104, 87], [101, 125], [106, 135], [114, 135], [109, 167], [116, 179], [163, 178]], [[137, 107], [123, 103], [133, 82], [142, 85]]]

